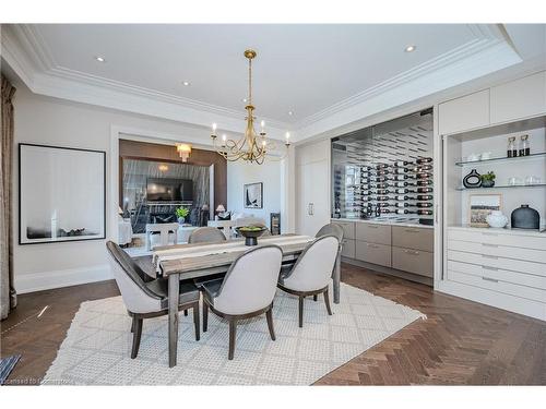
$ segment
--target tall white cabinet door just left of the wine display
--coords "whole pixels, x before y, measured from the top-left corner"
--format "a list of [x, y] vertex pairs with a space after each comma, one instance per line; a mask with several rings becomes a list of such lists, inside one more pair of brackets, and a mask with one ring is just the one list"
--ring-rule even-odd
[[330, 222], [330, 141], [297, 149], [297, 232], [314, 236]]

